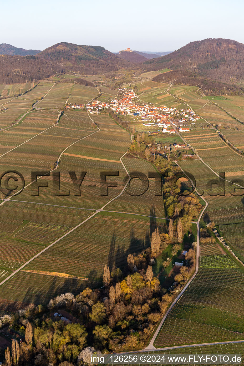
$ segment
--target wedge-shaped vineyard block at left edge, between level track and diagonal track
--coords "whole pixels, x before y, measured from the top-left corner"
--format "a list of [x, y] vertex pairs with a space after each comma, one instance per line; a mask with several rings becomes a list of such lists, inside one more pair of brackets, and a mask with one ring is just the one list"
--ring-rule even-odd
[[92, 213], [82, 210], [77, 216], [75, 209], [14, 201], [1, 212], [0, 266], [14, 269]]

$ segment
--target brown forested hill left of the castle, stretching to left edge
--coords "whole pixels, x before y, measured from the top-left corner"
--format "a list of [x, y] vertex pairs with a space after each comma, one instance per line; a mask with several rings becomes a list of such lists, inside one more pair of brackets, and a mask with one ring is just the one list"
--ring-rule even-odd
[[0, 84], [37, 81], [70, 70], [94, 75], [133, 66], [103, 47], [61, 42], [35, 56], [0, 55]]

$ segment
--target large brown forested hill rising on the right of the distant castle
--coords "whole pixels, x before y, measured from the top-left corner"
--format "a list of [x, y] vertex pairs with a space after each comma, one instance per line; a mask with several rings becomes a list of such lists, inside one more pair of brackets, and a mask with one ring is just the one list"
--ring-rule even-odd
[[241, 80], [244, 78], [244, 44], [223, 38], [208, 38], [190, 42], [177, 51], [145, 61], [148, 70], [189, 70], [201, 76], [219, 81]]

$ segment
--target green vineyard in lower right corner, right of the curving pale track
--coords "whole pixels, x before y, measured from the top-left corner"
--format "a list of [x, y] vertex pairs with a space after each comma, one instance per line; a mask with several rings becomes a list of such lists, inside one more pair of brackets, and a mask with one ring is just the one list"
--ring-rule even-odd
[[[200, 257], [200, 265], [204, 261], [216, 264], [209, 257], [219, 255]], [[222, 266], [223, 259], [218, 264]], [[243, 339], [244, 274], [220, 266], [199, 268], [162, 325], [155, 347]]]

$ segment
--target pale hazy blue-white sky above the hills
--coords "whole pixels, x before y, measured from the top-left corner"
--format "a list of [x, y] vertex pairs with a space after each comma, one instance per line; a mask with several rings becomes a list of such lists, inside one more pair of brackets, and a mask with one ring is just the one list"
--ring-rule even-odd
[[2, 0], [0, 43], [43, 50], [64, 41], [112, 52], [175, 51], [205, 38], [244, 43], [243, 14], [243, 0]]

